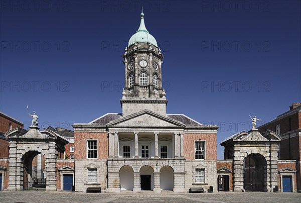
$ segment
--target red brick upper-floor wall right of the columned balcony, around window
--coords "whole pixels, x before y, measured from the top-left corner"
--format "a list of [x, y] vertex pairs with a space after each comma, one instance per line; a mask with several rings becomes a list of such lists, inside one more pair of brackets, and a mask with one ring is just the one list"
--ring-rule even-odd
[[205, 159], [216, 160], [216, 134], [185, 134], [184, 156], [187, 160], [195, 159], [195, 140], [205, 141]]

